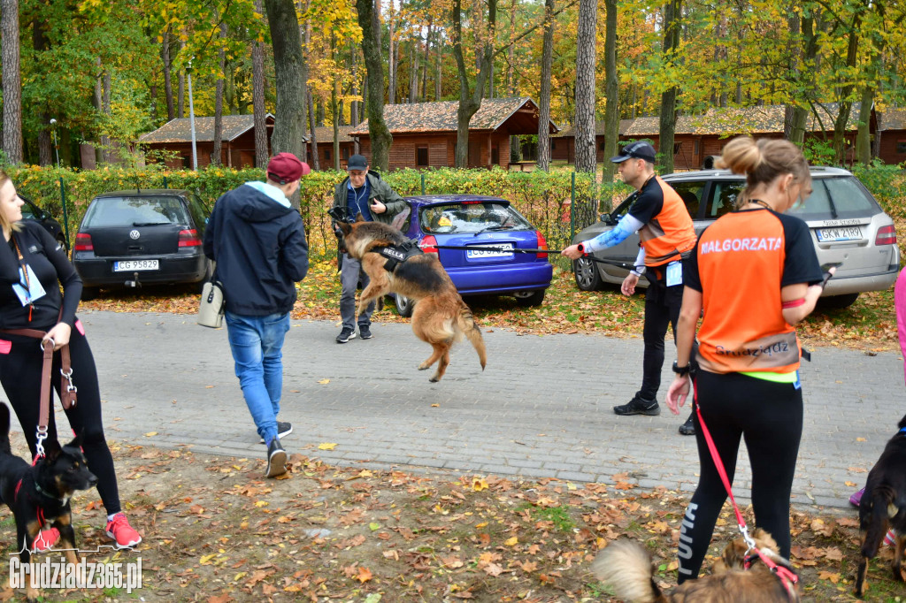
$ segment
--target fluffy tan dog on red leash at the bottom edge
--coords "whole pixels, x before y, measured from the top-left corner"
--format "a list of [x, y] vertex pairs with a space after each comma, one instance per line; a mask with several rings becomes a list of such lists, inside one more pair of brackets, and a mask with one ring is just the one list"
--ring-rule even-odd
[[[775, 552], [777, 545], [770, 534], [756, 529], [752, 531], [752, 539], [770, 560], [790, 569], [789, 561]], [[651, 555], [637, 542], [612, 542], [598, 554], [592, 570], [598, 579], [612, 586], [618, 598], [632, 603], [788, 603], [799, 600], [798, 585], [794, 591], [787, 591], [784, 583], [758, 558], [746, 570], [747, 550], [742, 537], [731, 541], [710, 575], [687, 580], [667, 592], [661, 591], [654, 580]]]

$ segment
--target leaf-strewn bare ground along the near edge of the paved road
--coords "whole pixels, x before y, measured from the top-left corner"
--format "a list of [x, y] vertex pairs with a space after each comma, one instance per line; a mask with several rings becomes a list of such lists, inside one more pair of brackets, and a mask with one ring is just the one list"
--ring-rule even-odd
[[[120, 483], [144, 541], [117, 560], [141, 557], [142, 589], [131, 597], [48, 590], [45, 600], [607, 601], [590, 567], [618, 538], [644, 544], [659, 584], [676, 582], [688, 499], [664, 487], [622, 491], [556, 479], [340, 468], [302, 455], [293, 455], [286, 480], [275, 481], [262, 477], [263, 459], [113, 449], [120, 474], [155, 472]], [[108, 542], [96, 498], [92, 491], [73, 499], [82, 550]], [[751, 509], [744, 512], [754, 523]], [[855, 511], [794, 511], [792, 531], [804, 600], [855, 600]], [[727, 506], [706, 568], [736, 536]], [[14, 540], [8, 513], [0, 537]], [[884, 547], [872, 561], [869, 600], [902, 594], [889, 579], [890, 558]]]

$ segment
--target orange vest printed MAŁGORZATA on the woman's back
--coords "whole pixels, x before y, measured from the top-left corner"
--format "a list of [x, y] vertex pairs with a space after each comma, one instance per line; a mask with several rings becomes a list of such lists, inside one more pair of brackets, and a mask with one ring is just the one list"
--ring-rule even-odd
[[781, 311], [784, 226], [766, 210], [721, 216], [697, 251], [704, 318], [699, 365], [712, 373], [799, 368], [799, 340]]

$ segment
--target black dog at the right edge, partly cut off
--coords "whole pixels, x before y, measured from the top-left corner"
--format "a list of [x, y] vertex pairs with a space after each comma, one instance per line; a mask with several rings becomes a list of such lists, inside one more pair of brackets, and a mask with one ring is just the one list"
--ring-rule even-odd
[[869, 472], [859, 503], [863, 539], [862, 560], [855, 579], [857, 597], [865, 594], [868, 561], [878, 554], [884, 536], [891, 529], [897, 537], [891, 564], [893, 579], [903, 579], [900, 568], [906, 546], [906, 416], [900, 419], [899, 427], [900, 431], [884, 446], [881, 458]]

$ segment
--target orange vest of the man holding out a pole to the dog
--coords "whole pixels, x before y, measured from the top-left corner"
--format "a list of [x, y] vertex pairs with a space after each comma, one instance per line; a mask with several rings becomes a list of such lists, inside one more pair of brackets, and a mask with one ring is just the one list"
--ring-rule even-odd
[[679, 260], [679, 254], [695, 246], [695, 228], [682, 197], [660, 177], [656, 176], [655, 181], [663, 192], [664, 203], [660, 213], [639, 230], [646, 266]]

